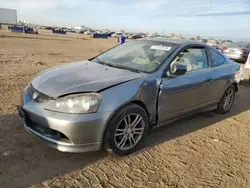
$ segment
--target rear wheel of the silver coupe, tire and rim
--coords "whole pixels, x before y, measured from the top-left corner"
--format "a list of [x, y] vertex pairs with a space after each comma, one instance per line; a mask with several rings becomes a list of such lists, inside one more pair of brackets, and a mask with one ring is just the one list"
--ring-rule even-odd
[[227, 88], [227, 90], [223, 94], [220, 102], [218, 103], [216, 112], [219, 114], [225, 114], [229, 112], [234, 103], [234, 99], [235, 99], [235, 87], [231, 85]]

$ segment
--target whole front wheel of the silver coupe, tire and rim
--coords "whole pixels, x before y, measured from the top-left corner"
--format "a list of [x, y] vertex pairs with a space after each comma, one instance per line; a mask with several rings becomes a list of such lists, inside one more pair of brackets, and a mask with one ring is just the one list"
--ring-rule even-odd
[[104, 148], [123, 156], [137, 150], [149, 126], [146, 111], [136, 104], [118, 110], [111, 118], [104, 134]]

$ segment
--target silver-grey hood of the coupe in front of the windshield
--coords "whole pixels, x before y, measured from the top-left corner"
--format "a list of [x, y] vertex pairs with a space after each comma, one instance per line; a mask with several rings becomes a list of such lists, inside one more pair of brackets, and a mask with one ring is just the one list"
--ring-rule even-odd
[[80, 61], [47, 69], [33, 80], [33, 87], [50, 97], [78, 92], [98, 92], [142, 74], [102, 64]]

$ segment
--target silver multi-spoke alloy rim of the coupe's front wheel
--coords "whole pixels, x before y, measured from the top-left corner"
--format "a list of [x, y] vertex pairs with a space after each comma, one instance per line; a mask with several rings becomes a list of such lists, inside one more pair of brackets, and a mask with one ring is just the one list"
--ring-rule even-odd
[[142, 138], [145, 122], [139, 114], [128, 114], [118, 124], [114, 141], [120, 150], [133, 148]]

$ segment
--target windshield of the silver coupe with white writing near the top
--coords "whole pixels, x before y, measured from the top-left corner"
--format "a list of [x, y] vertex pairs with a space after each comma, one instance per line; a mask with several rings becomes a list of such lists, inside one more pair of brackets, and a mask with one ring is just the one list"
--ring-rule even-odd
[[129, 41], [95, 58], [96, 62], [117, 68], [155, 71], [177, 44], [160, 41]]

